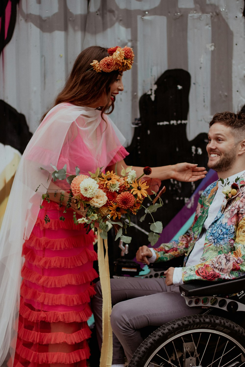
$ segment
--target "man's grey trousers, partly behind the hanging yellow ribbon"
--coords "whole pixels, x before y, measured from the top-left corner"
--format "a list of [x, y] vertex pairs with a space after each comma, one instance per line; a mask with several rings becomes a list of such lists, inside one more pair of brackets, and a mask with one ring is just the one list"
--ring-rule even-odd
[[[102, 344], [102, 295], [100, 282], [91, 299], [98, 343]], [[140, 329], [161, 326], [182, 316], [195, 315], [199, 307], [188, 307], [181, 297], [179, 287], [166, 286], [165, 279], [131, 278], [111, 279], [113, 334], [113, 364], [128, 360], [143, 341]], [[123, 352], [124, 350], [124, 352]]]

